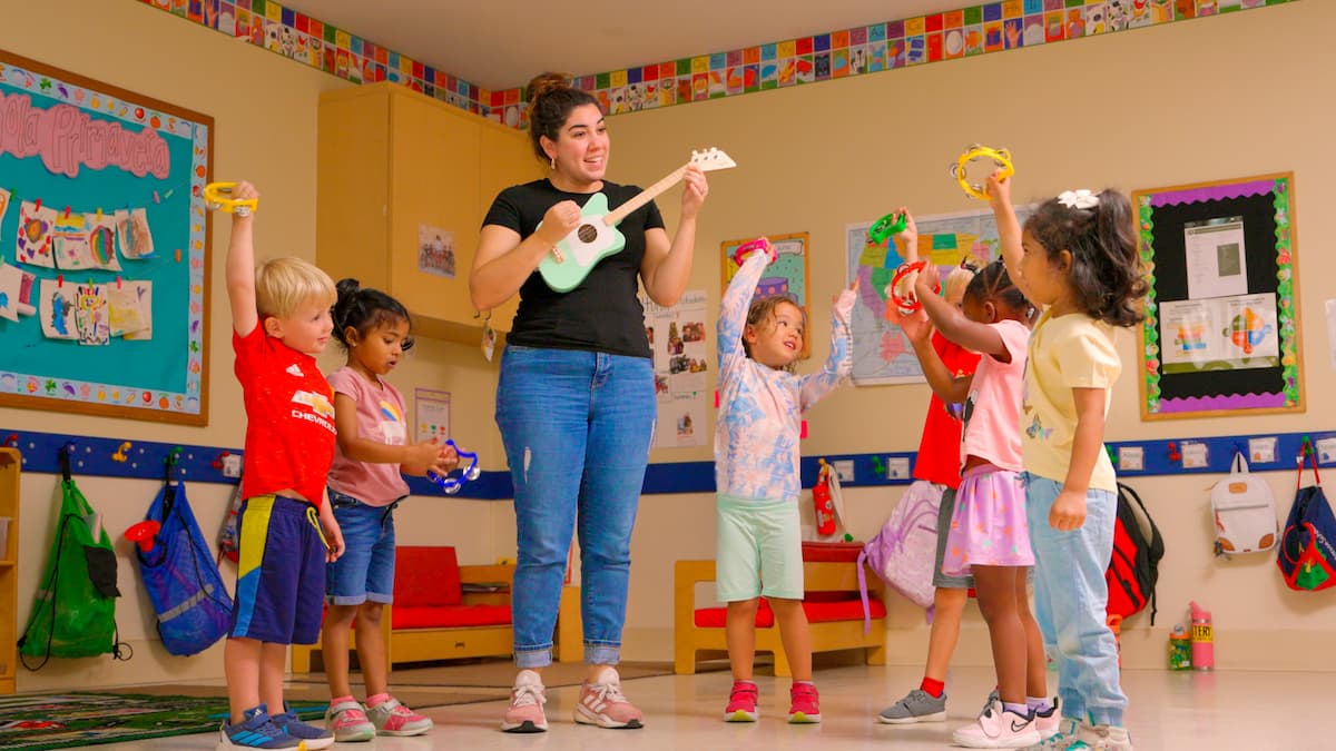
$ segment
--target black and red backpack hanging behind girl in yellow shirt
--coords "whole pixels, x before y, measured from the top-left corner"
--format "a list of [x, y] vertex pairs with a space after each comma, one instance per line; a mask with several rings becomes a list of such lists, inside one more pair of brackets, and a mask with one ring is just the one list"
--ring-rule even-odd
[[1113, 556], [1105, 581], [1109, 584], [1108, 615], [1126, 619], [1150, 605], [1156, 624], [1156, 581], [1165, 541], [1136, 490], [1118, 482], [1118, 518], [1113, 527]]

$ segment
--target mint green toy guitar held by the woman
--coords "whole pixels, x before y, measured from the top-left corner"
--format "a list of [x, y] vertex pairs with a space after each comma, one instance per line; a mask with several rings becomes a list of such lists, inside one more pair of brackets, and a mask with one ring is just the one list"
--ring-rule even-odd
[[[596, 192], [580, 210], [580, 226], [570, 231], [557, 247], [538, 263], [538, 274], [549, 287], [558, 293], [568, 293], [589, 275], [600, 261], [621, 253], [627, 247], [627, 238], [617, 231], [617, 224], [632, 211], [649, 203], [660, 192], [671, 188], [687, 174], [687, 167], [692, 164], [709, 172], [713, 170], [727, 170], [736, 167], [727, 154], [717, 148], [707, 151], [692, 151], [691, 160], [677, 167], [668, 176], [640, 191], [635, 198], [623, 203], [613, 211], [608, 211], [608, 196]], [[538, 224], [542, 226], [541, 223]]]

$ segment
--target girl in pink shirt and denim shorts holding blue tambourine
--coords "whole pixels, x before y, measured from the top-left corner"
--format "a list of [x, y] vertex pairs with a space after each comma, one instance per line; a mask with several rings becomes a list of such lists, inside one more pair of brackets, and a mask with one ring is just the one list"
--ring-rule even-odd
[[[390, 295], [338, 283], [334, 338], [347, 350], [347, 365], [329, 374], [334, 389], [338, 438], [330, 468], [334, 518], [345, 528], [342, 559], [329, 564], [329, 613], [321, 651], [330, 684], [325, 727], [339, 743], [375, 735], [422, 735], [432, 720], [389, 694], [381, 617], [394, 592], [394, 508], [409, 494], [402, 473], [445, 474], [460, 464], [454, 449], [434, 440], [409, 444], [403, 397], [383, 380], [413, 346], [409, 313]], [[366, 680], [366, 704], [353, 699], [347, 643], [357, 619], [357, 657]]]

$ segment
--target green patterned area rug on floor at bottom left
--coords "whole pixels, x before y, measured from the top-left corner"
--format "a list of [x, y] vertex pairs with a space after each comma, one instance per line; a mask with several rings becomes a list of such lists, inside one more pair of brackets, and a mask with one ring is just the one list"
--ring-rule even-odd
[[[220, 688], [226, 692], [226, 688]], [[298, 704], [319, 719], [325, 704]], [[0, 748], [79, 748], [170, 735], [218, 732], [226, 696], [146, 694], [17, 695], [0, 699]]]

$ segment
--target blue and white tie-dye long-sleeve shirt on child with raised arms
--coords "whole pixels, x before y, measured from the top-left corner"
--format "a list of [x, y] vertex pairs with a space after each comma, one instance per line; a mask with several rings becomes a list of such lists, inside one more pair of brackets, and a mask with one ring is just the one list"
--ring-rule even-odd
[[719, 420], [715, 422], [715, 485], [749, 500], [798, 500], [802, 413], [852, 370], [850, 313], [844, 290], [831, 309], [831, 351], [816, 373], [794, 376], [749, 357], [743, 327], [768, 257], [754, 253], [728, 283], [719, 311]]

